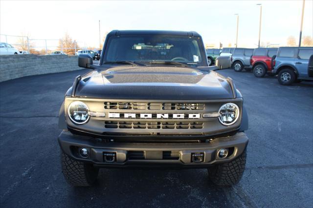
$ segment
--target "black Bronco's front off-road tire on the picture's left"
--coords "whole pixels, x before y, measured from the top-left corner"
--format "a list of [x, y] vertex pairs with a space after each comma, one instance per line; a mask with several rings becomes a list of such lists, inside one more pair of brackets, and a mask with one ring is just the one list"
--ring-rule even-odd
[[90, 187], [97, 179], [99, 168], [72, 160], [61, 153], [62, 172], [67, 183], [74, 187]]

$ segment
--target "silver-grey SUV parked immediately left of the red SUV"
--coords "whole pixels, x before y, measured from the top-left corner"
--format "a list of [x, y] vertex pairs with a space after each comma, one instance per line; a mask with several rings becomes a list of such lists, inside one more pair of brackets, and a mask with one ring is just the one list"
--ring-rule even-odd
[[253, 54], [252, 48], [235, 48], [231, 56], [232, 66], [235, 71], [251, 71], [250, 58]]

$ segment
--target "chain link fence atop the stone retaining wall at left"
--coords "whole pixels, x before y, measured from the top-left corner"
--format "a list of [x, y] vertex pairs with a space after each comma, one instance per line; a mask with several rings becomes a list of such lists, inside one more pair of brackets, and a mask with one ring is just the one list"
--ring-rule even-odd
[[22, 53], [38, 55], [76, 55], [78, 50], [86, 51], [88, 49], [85, 42], [73, 41], [70, 44], [64, 45], [62, 39], [30, 39], [27, 36], [5, 34], [0, 34], [0, 42], [10, 44]]

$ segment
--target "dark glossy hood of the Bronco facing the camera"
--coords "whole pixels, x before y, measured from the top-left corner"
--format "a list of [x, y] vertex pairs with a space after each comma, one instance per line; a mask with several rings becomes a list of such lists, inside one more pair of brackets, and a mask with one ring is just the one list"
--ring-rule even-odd
[[76, 96], [108, 99], [205, 100], [232, 98], [226, 79], [189, 67], [118, 66], [82, 78]]

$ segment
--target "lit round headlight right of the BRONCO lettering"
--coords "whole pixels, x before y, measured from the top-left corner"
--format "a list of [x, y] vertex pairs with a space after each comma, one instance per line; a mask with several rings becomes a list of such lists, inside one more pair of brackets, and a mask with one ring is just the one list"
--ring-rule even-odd
[[219, 110], [219, 121], [223, 125], [232, 125], [239, 118], [239, 107], [236, 104], [228, 103], [222, 105]]

